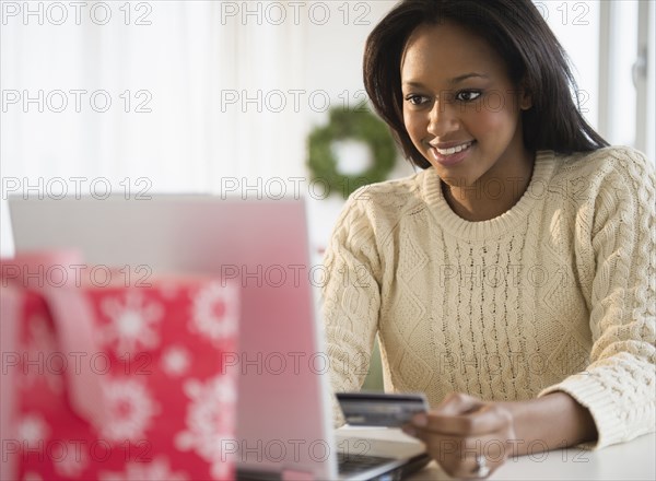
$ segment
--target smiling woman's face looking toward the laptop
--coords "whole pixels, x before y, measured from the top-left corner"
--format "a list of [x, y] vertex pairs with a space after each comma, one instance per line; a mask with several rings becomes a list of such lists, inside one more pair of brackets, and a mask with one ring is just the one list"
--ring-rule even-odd
[[530, 98], [483, 38], [449, 23], [420, 26], [401, 60], [401, 89], [408, 134], [446, 184], [508, 181], [526, 165], [520, 110]]

